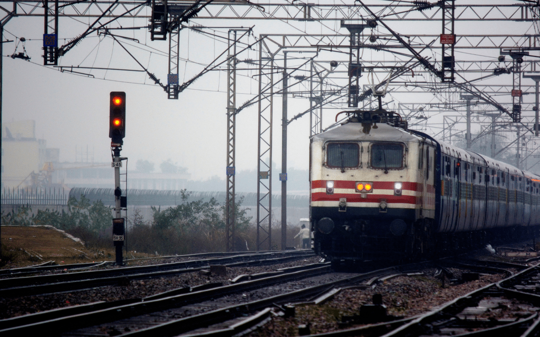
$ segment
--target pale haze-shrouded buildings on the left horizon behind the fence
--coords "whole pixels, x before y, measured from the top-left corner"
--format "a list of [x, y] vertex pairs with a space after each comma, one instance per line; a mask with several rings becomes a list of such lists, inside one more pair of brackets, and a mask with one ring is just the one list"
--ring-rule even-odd
[[[4, 123], [2, 128], [1, 189], [114, 187], [114, 169], [110, 162], [93, 162], [93, 155], [87, 149], [76, 154], [76, 162], [60, 162], [60, 149], [46, 148], [44, 139], [36, 139], [35, 121]], [[180, 190], [186, 188], [190, 179], [187, 173], [130, 170], [126, 176], [125, 169], [120, 172], [121, 186], [125, 186], [127, 177], [128, 189]]]

